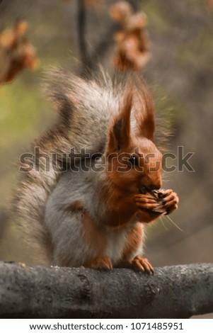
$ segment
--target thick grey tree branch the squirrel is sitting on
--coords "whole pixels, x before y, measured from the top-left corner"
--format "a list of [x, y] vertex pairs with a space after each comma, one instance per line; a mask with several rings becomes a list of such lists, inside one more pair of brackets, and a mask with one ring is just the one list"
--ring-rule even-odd
[[1, 318], [186, 318], [213, 312], [213, 264], [103, 271], [0, 262]]

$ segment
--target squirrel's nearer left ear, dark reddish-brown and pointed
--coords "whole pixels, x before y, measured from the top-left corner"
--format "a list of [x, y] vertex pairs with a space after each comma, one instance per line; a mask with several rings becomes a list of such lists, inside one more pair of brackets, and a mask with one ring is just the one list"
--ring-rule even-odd
[[125, 98], [112, 128], [108, 140], [108, 152], [124, 149], [130, 142], [130, 115], [132, 108], [132, 89], [126, 89]]

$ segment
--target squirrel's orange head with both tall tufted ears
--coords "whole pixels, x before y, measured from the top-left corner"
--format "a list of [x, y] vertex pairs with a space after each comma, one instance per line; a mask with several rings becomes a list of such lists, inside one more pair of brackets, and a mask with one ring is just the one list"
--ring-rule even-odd
[[153, 142], [154, 105], [144, 86], [132, 84], [110, 128], [106, 157], [108, 176], [122, 191], [161, 188], [162, 154]]

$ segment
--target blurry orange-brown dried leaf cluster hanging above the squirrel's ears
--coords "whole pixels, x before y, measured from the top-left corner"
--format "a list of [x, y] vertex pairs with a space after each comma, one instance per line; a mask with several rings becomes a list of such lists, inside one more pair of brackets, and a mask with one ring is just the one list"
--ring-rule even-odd
[[115, 33], [117, 53], [114, 66], [118, 71], [139, 71], [149, 61], [149, 38], [146, 35], [146, 16], [132, 13], [125, 1], [120, 1], [110, 9], [113, 19], [122, 25], [122, 30]]

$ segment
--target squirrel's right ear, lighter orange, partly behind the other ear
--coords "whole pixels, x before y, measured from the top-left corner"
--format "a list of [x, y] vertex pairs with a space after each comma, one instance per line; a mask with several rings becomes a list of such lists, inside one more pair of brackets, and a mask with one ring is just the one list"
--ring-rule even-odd
[[151, 94], [142, 86], [134, 94], [135, 117], [137, 120], [137, 136], [144, 136], [153, 141], [155, 130], [154, 103]]

